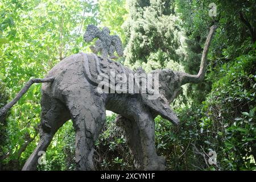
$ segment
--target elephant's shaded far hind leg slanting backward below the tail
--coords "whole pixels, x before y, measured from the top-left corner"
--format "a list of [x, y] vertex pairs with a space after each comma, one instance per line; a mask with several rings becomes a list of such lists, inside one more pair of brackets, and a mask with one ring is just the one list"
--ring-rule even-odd
[[58, 100], [48, 97], [46, 94], [42, 96], [42, 116], [39, 128], [40, 141], [38, 146], [24, 164], [23, 171], [34, 171], [38, 166], [38, 159], [42, 156], [42, 151], [46, 152], [47, 147], [52, 141], [56, 131], [70, 119], [68, 109]]

